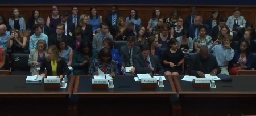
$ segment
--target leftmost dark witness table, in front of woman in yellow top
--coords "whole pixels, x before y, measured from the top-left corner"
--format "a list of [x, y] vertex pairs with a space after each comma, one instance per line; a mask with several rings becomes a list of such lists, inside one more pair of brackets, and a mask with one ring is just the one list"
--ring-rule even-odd
[[[72, 115], [72, 105], [69, 104], [69, 96], [72, 94], [74, 82], [75, 76], [71, 76], [68, 78], [67, 88], [47, 89], [44, 88], [43, 82], [27, 84], [26, 76], [0, 76], [0, 102], [2, 104], [1, 107], [3, 106], [3, 108], [0, 108], [3, 110], [0, 111], [1, 115], [2, 113], [6, 113], [7, 115], [15, 115], [14, 113], [17, 113], [18, 115], [32, 115], [33, 113], [36, 113], [36, 110], [39, 108], [43, 107], [47, 110], [48, 108], [51, 108], [50, 106], [65, 108], [62, 111], [65, 115], [67, 115], [67, 109], [69, 109], [68, 114]], [[10, 108], [8, 108], [9, 105]], [[13, 108], [14, 110], [11, 110]], [[10, 109], [11, 111], [5, 109]], [[40, 110], [42, 111], [42, 109]], [[42, 113], [35, 115], [40, 114], [52, 115], [52, 112], [47, 113], [47, 111], [42, 111]]]

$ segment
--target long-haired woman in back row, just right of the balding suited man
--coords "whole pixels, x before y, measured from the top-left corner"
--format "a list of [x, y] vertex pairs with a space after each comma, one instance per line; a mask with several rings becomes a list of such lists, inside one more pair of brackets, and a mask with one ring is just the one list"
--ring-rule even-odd
[[212, 28], [218, 25], [218, 9], [214, 9], [212, 11], [212, 15], [208, 19], [205, 20], [205, 24], [208, 24], [210, 27], [210, 32], [212, 32]]

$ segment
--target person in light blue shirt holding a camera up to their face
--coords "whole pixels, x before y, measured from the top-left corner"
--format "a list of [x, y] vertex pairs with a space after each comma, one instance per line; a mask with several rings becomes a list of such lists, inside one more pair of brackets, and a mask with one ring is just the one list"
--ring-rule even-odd
[[223, 41], [216, 40], [208, 48], [213, 51], [213, 55], [216, 57], [218, 66], [221, 68], [220, 74], [229, 75], [228, 65], [234, 57], [234, 50], [230, 47], [230, 41], [232, 41], [232, 36], [225, 35]]

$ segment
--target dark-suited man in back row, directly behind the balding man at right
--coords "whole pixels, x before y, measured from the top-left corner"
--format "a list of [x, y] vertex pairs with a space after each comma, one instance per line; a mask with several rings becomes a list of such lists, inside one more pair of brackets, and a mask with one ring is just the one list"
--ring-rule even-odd
[[196, 18], [196, 7], [190, 8], [190, 15], [187, 16], [183, 23], [183, 29], [188, 29], [190, 25], [194, 24], [194, 19]]

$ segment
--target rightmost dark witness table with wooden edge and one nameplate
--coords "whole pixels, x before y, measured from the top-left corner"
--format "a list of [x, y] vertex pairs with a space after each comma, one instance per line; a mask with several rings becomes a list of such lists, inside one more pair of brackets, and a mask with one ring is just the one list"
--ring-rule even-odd
[[[192, 82], [181, 80], [183, 76], [174, 76], [179, 98], [250, 98], [256, 97], [255, 76], [231, 76], [233, 81], [216, 81], [217, 88], [193, 88]], [[182, 103], [183, 101], [180, 100]], [[200, 109], [200, 108], [199, 108]], [[181, 115], [181, 109], [178, 110]]]

